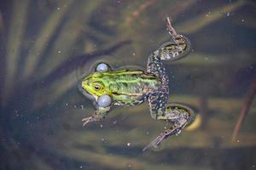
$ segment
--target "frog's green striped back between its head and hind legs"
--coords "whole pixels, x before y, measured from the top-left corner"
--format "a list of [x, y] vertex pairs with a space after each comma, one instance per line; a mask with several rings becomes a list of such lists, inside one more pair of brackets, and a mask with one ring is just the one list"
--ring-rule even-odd
[[140, 70], [106, 72], [102, 82], [115, 101], [126, 105], [143, 99], [148, 93], [156, 91], [160, 85], [157, 77]]

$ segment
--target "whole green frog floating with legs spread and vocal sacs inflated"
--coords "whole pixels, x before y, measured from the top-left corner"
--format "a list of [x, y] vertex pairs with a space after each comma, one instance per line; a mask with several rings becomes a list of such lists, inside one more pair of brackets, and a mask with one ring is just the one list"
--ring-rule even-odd
[[96, 104], [96, 112], [82, 120], [83, 126], [105, 118], [115, 105], [133, 106], [148, 101], [152, 118], [170, 122], [172, 126], [143, 148], [147, 150], [159, 148], [164, 139], [181, 133], [189, 125], [194, 115], [191, 107], [181, 103], [167, 103], [170, 95], [169, 78], [164, 61], [183, 58], [189, 52], [190, 43], [186, 37], [177, 34], [169, 17], [166, 21], [166, 30], [172, 41], [163, 43], [148, 56], [145, 71], [129, 68], [113, 70], [107, 63], [99, 63], [94, 72], [82, 79], [82, 90]]

